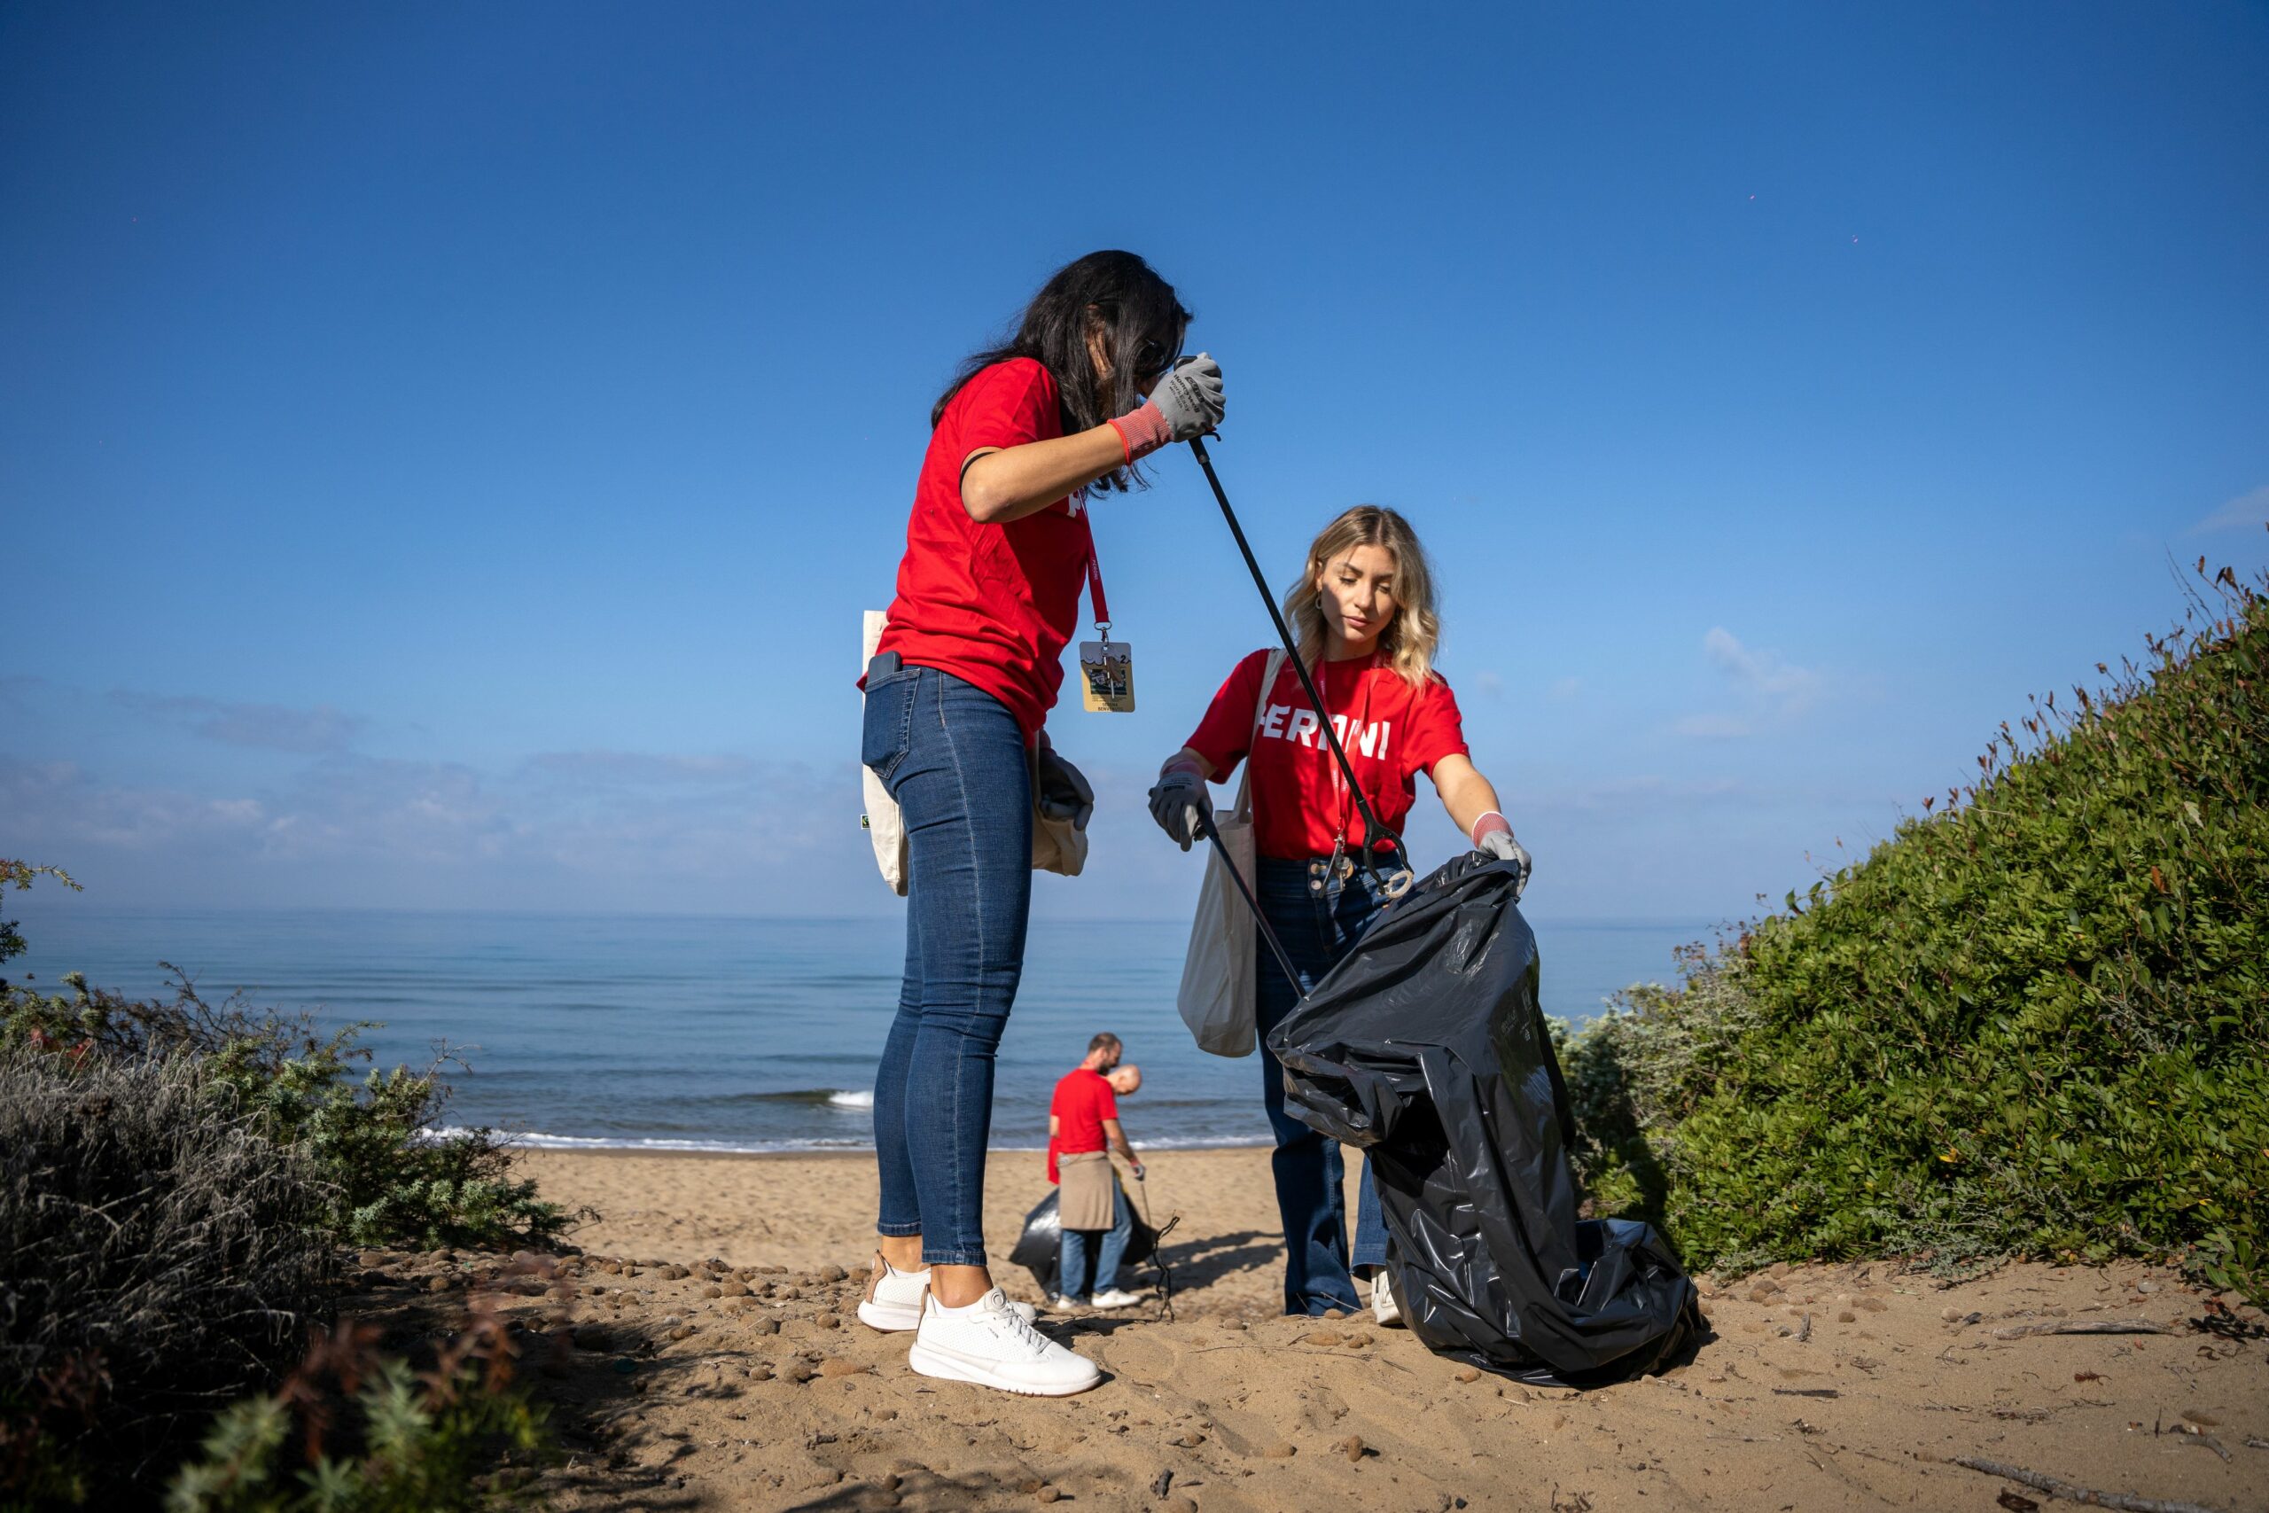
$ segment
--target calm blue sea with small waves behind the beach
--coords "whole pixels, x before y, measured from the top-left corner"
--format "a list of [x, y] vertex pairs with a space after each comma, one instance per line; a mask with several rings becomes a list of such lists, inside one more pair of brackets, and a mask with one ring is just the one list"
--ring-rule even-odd
[[[14, 982], [66, 971], [129, 996], [197, 994], [334, 1030], [377, 1066], [442, 1057], [449, 1127], [529, 1146], [626, 1150], [871, 1148], [874, 1068], [899, 998], [903, 932], [876, 919], [572, 916], [377, 910], [27, 910]], [[1675, 980], [1677, 921], [1532, 921], [1545, 1012], [1581, 1023], [1631, 982]], [[992, 1141], [1046, 1143], [1048, 1093], [1110, 1030], [1144, 1089], [1121, 1105], [1144, 1148], [1266, 1143], [1259, 1057], [1200, 1053], [1175, 1014], [1184, 921], [1035, 921], [1001, 1041]]]

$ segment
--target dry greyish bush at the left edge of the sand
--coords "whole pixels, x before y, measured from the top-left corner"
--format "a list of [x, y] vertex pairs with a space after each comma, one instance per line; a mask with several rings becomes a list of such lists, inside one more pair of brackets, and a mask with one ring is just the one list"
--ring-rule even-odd
[[334, 1248], [311, 1161], [193, 1057], [0, 1050], [0, 1495], [86, 1493], [272, 1379]]

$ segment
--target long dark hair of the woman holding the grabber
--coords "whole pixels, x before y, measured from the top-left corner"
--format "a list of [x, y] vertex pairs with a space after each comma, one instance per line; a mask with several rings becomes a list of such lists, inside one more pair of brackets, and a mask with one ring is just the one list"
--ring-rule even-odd
[[[1064, 436], [1100, 426], [1112, 415], [1125, 415], [1173, 361], [1182, 354], [1189, 311], [1173, 297], [1173, 284], [1157, 277], [1150, 263], [1132, 252], [1089, 252], [1064, 263], [1023, 306], [1017, 336], [1005, 345], [973, 354], [953, 374], [953, 383], [930, 406], [930, 429], [944, 420], [953, 395], [994, 363], [1028, 356], [1055, 374]], [[1112, 377], [1096, 379], [1087, 356], [1087, 333], [1103, 331], [1103, 352]], [[1128, 470], [1105, 474], [1100, 488], [1128, 488]]]

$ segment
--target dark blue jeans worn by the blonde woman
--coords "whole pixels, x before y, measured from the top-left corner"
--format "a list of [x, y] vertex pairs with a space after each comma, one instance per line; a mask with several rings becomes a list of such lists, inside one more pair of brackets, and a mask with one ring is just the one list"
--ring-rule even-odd
[[[1339, 1141], [1316, 1134], [1284, 1111], [1284, 1064], [1268, 1055], [1268, 1032], [1293, 1012], [1300, 996], [1316, 987], [1355, 941], [1370, 928], [1370, 921], [1386, 907], [1386, 896], [1368, 873], [1355, 871], [1350, 878], [1323, 878], [1323, 889], [1309, 887], [1321, 876], [1321, 864], [1259, 860], [1262, 914], [1275, 925], [1284, 953], [1300, 971], [1300, 982], [1284, 980], [1268, 941], [1255, 941], [1255, 1018], [1262, 1032], [1262, 1107], [1268, 1109], [1268, 1127], [1275, 1132], [1275, 1155], [1271, 1168], [1277, 1189], [1277, 1216], [1284, 1220], [1284, 1311], [1323, 1313], [1346, 1309], [1352, 1313], [1355, 1282], [1348, 1275], [1348, 1202], [1341, 1184], [1348, 1168], [1339, 1155]], [[1386, 1225], [1380, 1218], [1380, 1200], [1370, 1191], [1370, 1164], [1364, 1161], [1364, 1189], [1357, 1202], [1355, 1263], [1386, 1263]]]

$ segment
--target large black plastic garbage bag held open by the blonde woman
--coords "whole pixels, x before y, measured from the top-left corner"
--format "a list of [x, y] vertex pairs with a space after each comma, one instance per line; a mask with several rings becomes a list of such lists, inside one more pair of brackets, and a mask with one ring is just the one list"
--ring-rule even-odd
[[1271, 1034], [1287, 1107], [1373, 1164], [1402, 1318], [1522, 1381], [1656, 1368], [1697, 1329], [1652, 1225], [1579, 1220], [1575, 1125], [1513, 867], [1477, 853], [1395, 901]]

